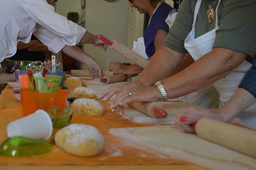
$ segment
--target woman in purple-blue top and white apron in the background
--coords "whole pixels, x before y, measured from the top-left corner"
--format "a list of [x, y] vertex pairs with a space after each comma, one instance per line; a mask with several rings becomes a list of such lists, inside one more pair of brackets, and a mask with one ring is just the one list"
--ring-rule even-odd
[[[139, 13], [147, 14], [150, 18], [143, 37], [134, 41], [133, 47], [134, 52], [150, 59], [169, 32], [169, 26], [165, 19], [172, 8], [163, 0], [129, 0], [129, 3], [131, 7], [137, 8]], [[109, 69], [112, 72], [127, 75], [127, 77], [132, 77], [143, 71], [143, 68], [137, 64], [127, 65], [121, 62], [111, 62]]]

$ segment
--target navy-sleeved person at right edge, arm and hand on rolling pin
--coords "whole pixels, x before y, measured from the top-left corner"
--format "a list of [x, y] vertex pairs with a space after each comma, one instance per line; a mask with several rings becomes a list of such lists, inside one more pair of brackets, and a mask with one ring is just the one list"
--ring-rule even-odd
[[[238, 90], [230, 98], [223, 108], [210, 110], [208, 108], [191, 108], [188, 111], [178, 114], [177, 124], [181, 125], [185, 132], [194, 132], [192, 123], [196, 123], [201, 118], [211, 118], [223, 122], [230, 122], [247, 107], [256, 101], [256, 60], [251, 69], [245, 74]], [[256, 114], [256, 111], [255, 111]], [[181, 119], [182, 118], [182, 119]], [[256, 123], [256, 118], [250, 123]], [[246, 123], [245, 123], [246, 124]], [[250, 125], [253, 127], [253, 125]]]

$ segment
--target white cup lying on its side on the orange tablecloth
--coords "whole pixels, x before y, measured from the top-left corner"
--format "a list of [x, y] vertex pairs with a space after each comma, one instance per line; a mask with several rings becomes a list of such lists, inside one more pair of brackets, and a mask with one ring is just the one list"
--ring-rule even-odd
[[52, 133], [53, 123], [50, 115], [41, 109], [31, 115], [11, 122], [7, 126], [8, 137], [24, 136], [38, 140], [47, 140]]

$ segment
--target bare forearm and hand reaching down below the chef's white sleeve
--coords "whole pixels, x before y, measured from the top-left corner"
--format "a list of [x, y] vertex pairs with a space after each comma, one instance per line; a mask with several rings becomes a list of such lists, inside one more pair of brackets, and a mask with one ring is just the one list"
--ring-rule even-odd
[[93, 60], [90, 55], [87, 55], [85, 52], [83, 52], [78, 46], [66, 45], [62, 52], [85, 64], [89, 69], [92, 79], [102, 77], [103, 74], [100, 65], [95, 60]]

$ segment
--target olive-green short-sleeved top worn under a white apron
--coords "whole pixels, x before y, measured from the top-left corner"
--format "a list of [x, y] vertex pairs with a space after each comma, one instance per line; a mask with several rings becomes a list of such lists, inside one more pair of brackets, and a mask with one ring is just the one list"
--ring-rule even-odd
[[[185, 54], [184, 40], [192, 29], [193, 13], [197, 0], [183, 0], [174, 26], [164, 40], [166, 47]], [[207, 4], [206, 4], [207, 2]], [[208, 4], [202, 0], [196, 20], [196, 37], [215, 28], [215, 21], [208, 23]], [[218, 3], [217, 3], [218, 4]], [[215, 3], [214, 8], [217, 4]], [[218, 7], [218, 25], [213, 47], [223, 47], [256, 57], [256, 1], [222, 0]]]

